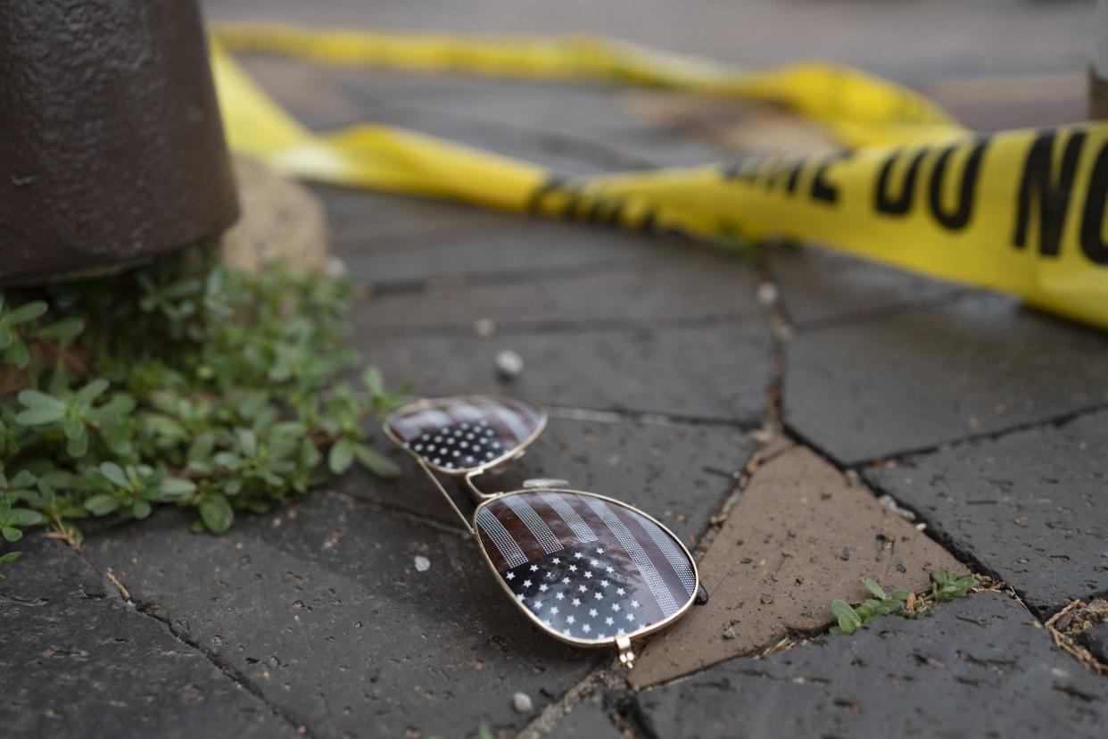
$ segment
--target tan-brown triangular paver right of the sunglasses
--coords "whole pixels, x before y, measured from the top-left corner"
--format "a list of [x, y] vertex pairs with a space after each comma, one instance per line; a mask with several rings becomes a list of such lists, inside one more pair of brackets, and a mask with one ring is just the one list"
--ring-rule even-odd
[[865, 577], [889, 591], [919, 591], [933, 571], [964, 569], [804, 447], [755, 473], [699, 567], [710, 601], [646, 646], [632, 673], [636, 687], [823, 628], [832, 598], [868, 597]]

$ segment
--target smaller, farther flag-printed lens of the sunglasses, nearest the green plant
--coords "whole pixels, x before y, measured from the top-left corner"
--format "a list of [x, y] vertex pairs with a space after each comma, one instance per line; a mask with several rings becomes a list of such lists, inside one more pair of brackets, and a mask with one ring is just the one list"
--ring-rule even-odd
[[386, 422], [408, 451], [447, 471], [465, 472], [493, 464], [531, 441], [543, 414], [515, 400], [488, 397], [443, 398], [401, 409]]

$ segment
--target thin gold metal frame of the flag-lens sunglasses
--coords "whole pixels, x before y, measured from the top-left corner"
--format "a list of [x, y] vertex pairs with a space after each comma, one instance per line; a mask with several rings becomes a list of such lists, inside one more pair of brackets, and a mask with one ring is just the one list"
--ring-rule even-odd
[[[669, 531], [668, 526], [666, 526], [664, 523], [661, 523], [660, 521], [658, 521], [657, 519], [655, 519], [654, 516], [652, 516], [649, 513], [647, 513], [647, 512], [638, 509], [635, 505], [632, 505], [630, 503], [625, 503], [624, 501], [616, 500], [615, 497], [611, 497], [608, 495], [601, 495], [599, 493], [591, 493], [591, 492], [584, 491], [584, 490], [573, 490], [571, 487], [558, 487], [558, 486], [546, 486], [546, 485], [527, 486], [526, 483], [524, 483], [524, 487], [521, 489], [521, 490], [512, 490], [512, 491], [505, 491], [505, 492], [499, 492], [499, 493], [485, 493], [485, 492], [482, 492], [480, 489], [478, 489], [478, 486], [473, 483], [473, 478], [482, 474], [483, 472], [488, 472], [489, 470], [492, 470], [492, 469], [497, 468], [497, 466], [505, 465], [505, 464], [507, 464], [510, 462], [514, 462], [515, 460], [520, 459], [521, 456], [523, 456], [524, 450], [527, 447], [530, 447], [538, 438], [538, 435], [546, 429], [546, 422], [548, 420], [548, 414], [546, 413], [546, 409], [543, 408], [543, 407], [541, 407], [541, 406], [540, 407], [532, 407], [532, 408], [535, 408], [535, 410], [538, 411], [538, 413], [540, 413], [540, 421], [538, 421], [538, 424], [535, 427], [535, 430], [523, 442], [521, 442], [519, 445], [516, 445], [516, 447], [507, 450], [506, 452], [504, 452], [503, 454], [501, 454], [500, 456], [497, 456], [494, 460], [490, 460], [489, 462], [484, 462], [484, 463], [482, 463], [480, 465], [476, 465], [476, 466], [473, 466], [473, 468], [464, 468], [464, 469], [461, 469], [461, 470], [447, 469], [444, 466], [441, 466], [441, 465], [428, 462], [418, 452], [412, 451], [407, 445], [404, 445], [404, 442], [402, 440], [400, 440], [400, 438], [398, 438], [394, 433], [392, 433], [392, 430], [389, 428], [389, 420], [392, 419], [392, 418], [394, 418], [394, 417], [404, 415], [404, 414], [409, 414], [409, 413], [414, 413], [414, 412], [418, 412], [418, 411], [433, 409], [433, 408], [445, 407], [448, 404], [452, 404], [452, 403], [456, 403], [456, 402], [470, 402], [470, 401], [475, 401], [475, 400], [493, 400], [493, 401], [497, 401], [497, 402], [507, 402], [507, 403], [513, 402], [513, 401], [511, 401], [510, 399], [506, 399], [506, 398], [501, 398], [501, 397], [497, 397], [497, 396], [488, 396], [488, 394], [451, 396], [451, 397], [448, 397], [448, 398], [424, 398], [424, 399], [417, 400], [417, 401], [411, 402], [411, 403], [407, 403], [407, 404], [401, 406], [400, 408], [397, 408], [396, 410], [391, 411], [384, 418], [384, 420], [383, 420], [383, 422], [382, 422], [381, 425], [382, 425], [382, 428], [384, 430], [384, 435], [392, 443], [397, 444], [397, 447], [399, 447], [400, 449], [402, 449], [404, 452], [407, 452], [409, 455], [411, 455], [416, 460], [416, 463], [420, 466], [420, 469], [423, 470], [423, 473], [428, 478], [430, 478], [431, 482], [434, 484], [435, 487], [439, 489], [439, 492], [442, 494], [442, 496], [447, 499], [447, 502], [450, 504], [450, 507], [454, 511], [454, 513], [458, 515], [459, 520], [461, 520], [462, 524], [465, 526], [466, 531], [470, 532], [470, 535], [473, 536], [473, 540], [476, 542], [478, 550], [481, 552], [481, 556], [484, 557], [485, 564], [489, 566], [489, 569], [492, 571], [493, 577], [495, 578], [496, 583], [500, 585], [501, 589], [504, 591], [504, 593], [507, 595], [509, 601], [516, 608], [519, 608], [520, 610], [522, 610], [527, 616], [527, 618], [531, 619], [531, 622], [535, 626], [537, 626], [538, 628], [541, 628], [543, 630], [544, 634], [547, 634], [547, 635], [554, 637], [555, 639], [557, 639], [560, 642], [563, 642], [565, 644], [570, 644], [570, 645], [573, 645], [575, 647], [589, 648], [589, 649], [612, 647], [612, 646], [616, 647], [619, 650], [619, 661], [622, 661], [628, 668], [633, 667], [634, 666], [634, 660], [635, 660], [635, 654], [632, 650], [630, 639], [632, 638], [639, 639], [639, 638], [643, 638], [645, 636], [648, 636], [650, 634], [654, 634], [656, 632], [659, 632], [659, 630], [666, 628], [667, 626], [669, 626], [670, 624], [673, 624], [674, 622], [676, 622], [678, 618], [680, 618], [681, 616], [684, 616], [688, 612], [688, 609], [691, 608], [693, 605], [696, 603], [697, 596], [700, 593], [700, 572], [697, 568], [696, 560], [693, 557], [691, 552], [688, 551], [688, 547], [685, 546], [685, 544], [681, 542], [681, 540], [678, 538], [678, 536], [674, 532]], [[519, 402], [519, 401], [515, 401], [515, 402]], [[465, 482], [466, 487], [470, 490], [470, 494], [474, 497], [475, 502], [478, 503], [476, 507], [473, 510], [473, 515], [470, 519], [466, 519], [466, 516], [462, 513], [461, 509], [458, 507], [458, 504], [454, 502], [454, 499], [450, 495], [450, 493], [447, 492], [447, 489], [443, 487], [442, 483], [434, 475], [434, 472], [440, 472], [440, 473], [442, 473], [444, 475], [448, 475], [448, 476], [451, 476], [451, 478], [462, 478], [463, 479], [463, 481]], [[578, 638], [575, 638], [575, 637], [572, 637], [572, 636], [565, 636], [564, 634], [562, 634], [562, 633], [557, 632], [556, 629], [554, 629], [554, 628], [547, 626], [546, 624], [544, 624], [542, 622], [542, 619], [538, 618], [538, 616], [536, 616], [530, 608], [527, 608], [526, 606], [524, 606], [523, 604], [521, 604], [516, 599], [515, 594], [512, 593], [512, 591], [507, 586], [507, 584], [504, 583], [504, 578], [501, 577], [500, 573], [496, 571], [496, 566], [493, 564], [492, 557], [490, 557], [489, 553], [485, 551], [484, 542], [481, 541], [481, 535], [478, 533], [478, 514], [481, 512], [481, 510], [485, 505], [492, 503], [493, 501], [499, 501], [499, 500], [502, 500], [504, 497], [509, 497], [511, 495], [520, 495], [520, 494], [523, 494], [523, 493], [544, 493], [544, 492], [548, 492], [548, 493], [570, 493], [570, 494], [573, 494], [573, 495], [583, 495], [583, 496], [586, 496], [586, 497], [595, 497], [595, 499], [605, 501], [607, 503], [614, 503], [615, 505], [619, 505], [619, 506], [622, 506], [624, 509], [627, 509], [628, 511], [637, 513], [638, 515], [647, 519], [648, 521], [650, 521], [652, 523], [654, 523], [656, 526], [658, 526], [661, 531], [664, 531], [666, 533], [666, 535], [669, 536], [669, 538], [671, 538], [674, 541], [674, 543], [677, 544], [677, 546], [679, 547], [679, 550], [688, 558], [689, 565], [693, 567], [693, 575], [695, 577], [695, 586], [693, 588], [693, 594], [689, 596], [689, 598], [685, 603], [685, 605], [683, 605], [676, 612], [674, 612], [673, 614], [670, 614], [666, 618], [661, 619], [657, 624], [652, 624], [649, 627], [647, 627], [645, 629], [639, 629], [639, 630], [633, 632], [632, 634], [628, 634], [626, 636], [612, 637], [612, 638], [605, 638], [605, 639], [578, 639]]]

